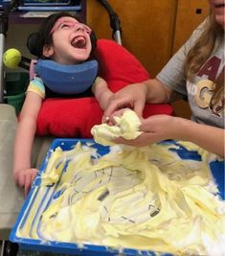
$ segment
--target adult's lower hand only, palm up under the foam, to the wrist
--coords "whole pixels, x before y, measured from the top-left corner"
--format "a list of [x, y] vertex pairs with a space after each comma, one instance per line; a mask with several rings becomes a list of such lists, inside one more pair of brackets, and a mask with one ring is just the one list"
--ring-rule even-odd
[[154, 115], [142, 120], [140, 130], [143, 133], [134, 140], [115, 139], [117, 144], [144, 147], [166, 139], [179, 137], [179, 122], [182, 119], [169, 115]]

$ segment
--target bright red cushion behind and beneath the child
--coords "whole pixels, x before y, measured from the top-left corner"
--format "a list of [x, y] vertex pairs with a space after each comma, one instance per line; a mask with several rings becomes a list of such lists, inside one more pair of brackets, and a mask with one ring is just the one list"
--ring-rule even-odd
[[[96, 58], [101, 77], [115, 92], [125, 85], [149, 78], [146, 69], [123, 46], [107, 39], [99, 39]], [[46, 99], [37, 118], [38, 135], [91, 138], [91, 128], [101, 124], [102, 110], [95, 98]], [[170, 105], [146, 105], [144, 116], [172, 114]]]

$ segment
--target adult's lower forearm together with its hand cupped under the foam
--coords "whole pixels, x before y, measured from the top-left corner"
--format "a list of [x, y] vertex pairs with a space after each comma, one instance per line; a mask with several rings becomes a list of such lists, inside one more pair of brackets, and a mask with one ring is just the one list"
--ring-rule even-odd
[[116, 143], [144, 147], [166, 139], [190, 141], [224, 157], [224, 129], [198, 124], [180, 117], [155, 115], [142, 120], [144, 131], [135, 140], [116, 139]]

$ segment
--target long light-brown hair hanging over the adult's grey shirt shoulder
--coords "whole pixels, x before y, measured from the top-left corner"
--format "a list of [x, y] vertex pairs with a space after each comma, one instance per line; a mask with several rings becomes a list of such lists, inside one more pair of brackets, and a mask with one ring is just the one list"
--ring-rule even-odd
[[215, 21], [214, 13], [211, 12], [205, 24], [205, 30], [196, 40], [188, 53], [185, 70], [187, 79], [192, 81], [194, 75], [206, 62], [214, 51], [215, 43], [220, 43], [223, 39], [224, 31]]

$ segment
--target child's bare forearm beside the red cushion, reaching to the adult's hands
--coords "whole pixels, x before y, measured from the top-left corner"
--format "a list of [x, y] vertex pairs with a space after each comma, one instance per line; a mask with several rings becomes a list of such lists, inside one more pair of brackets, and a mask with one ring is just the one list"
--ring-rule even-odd
[[97, 77], [96, 81], [92, 85], [92, 91], [96, 100], [99, 102], [101, 109], [104, 110], [108, 104], [109, 98], [113, 95], [113, 92], [108, 88], [106, 81], [100, 77]]

